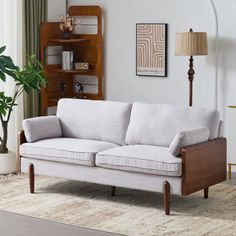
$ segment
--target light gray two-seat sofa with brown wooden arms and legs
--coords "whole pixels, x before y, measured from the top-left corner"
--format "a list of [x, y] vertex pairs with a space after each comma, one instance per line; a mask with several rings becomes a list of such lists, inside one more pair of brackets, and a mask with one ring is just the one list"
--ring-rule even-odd
[[226, 179], [216, 110], [61, 99], [57, 115], [23, 121], [18, 168], [115, 187], [188, 195]]

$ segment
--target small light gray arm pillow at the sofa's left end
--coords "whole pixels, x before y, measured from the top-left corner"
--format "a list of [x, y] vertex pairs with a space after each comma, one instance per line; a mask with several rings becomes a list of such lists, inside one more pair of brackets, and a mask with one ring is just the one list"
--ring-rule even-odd
[[27, 142], [62, 136], [61, 126], [56, 116], [41, 116], [25, 119], [22, 122]]

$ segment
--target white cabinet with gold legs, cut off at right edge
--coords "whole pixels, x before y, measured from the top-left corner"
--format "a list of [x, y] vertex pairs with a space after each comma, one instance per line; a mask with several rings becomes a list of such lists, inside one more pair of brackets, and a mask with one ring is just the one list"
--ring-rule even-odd
[[228, 174], [231, 179], [232, 166], [236, 166], [236, 106], [228, 106], [228, 132], [227, 132], [227, 153], [228, 153]]

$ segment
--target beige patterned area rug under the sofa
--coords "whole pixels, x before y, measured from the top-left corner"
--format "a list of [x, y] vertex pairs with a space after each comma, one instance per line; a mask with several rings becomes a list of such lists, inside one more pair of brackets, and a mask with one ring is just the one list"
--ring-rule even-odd
[[171, 215], [162, 194], [36, 176], [29, 194], [26, 175], [0, 179], [0, 210], [126, 235], [236, 235], [236, 186], [173, 197]]

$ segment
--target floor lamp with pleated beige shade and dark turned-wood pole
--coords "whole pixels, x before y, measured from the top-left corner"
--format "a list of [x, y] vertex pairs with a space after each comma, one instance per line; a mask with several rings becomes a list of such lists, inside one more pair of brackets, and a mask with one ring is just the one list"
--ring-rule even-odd
[[176, 33], [175, 41], [176, 56], [190, 56], [189, 59], [189, 106], [193, 105], [193, 78], [195, 71], [193, 69], [193, 56], [208, 55], [207, 33], [206, 32], [189, 32]]

